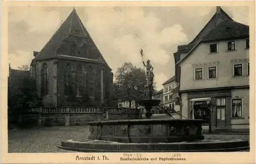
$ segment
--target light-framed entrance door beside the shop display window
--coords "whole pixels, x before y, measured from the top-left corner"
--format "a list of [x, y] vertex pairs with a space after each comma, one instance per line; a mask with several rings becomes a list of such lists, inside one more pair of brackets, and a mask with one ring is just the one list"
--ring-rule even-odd
[[226, 98], [217, 98], [216, 99], [216, 124], [217, 128], [226, 127]]

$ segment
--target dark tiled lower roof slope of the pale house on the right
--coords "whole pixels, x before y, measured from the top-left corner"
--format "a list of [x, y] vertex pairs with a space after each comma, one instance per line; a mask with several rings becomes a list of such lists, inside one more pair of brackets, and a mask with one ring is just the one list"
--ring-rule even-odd
[[201, 43], [205, 41], [217, 41], [227, 39], [240, 39], [249, 37], [249, 26], [240, 24], [236, 21], [223, 21], [214, 29], [212, 29], [206, 36], [204, 36], [177, 64], [188, 57], [191, 52]]

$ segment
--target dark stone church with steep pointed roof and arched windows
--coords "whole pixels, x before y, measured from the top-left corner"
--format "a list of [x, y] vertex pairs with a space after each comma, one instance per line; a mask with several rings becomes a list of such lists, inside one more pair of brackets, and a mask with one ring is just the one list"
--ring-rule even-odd
[[44, 106], [111, 104], [112, 69], [75, 9], [41, 51], [34, 52], [30, 76]]

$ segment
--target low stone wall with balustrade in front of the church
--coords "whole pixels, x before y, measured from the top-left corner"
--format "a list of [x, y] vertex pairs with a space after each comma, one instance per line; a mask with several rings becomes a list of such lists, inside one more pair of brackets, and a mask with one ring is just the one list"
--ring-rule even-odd
[[[92, 121], [102, 121], [106, 112], [109, 120], [139, 119], [139, 110], [103, 107], [38, 107], [23, 113], [9, 110], [8, 123], [26, 125], [74, 126], [88, 125]], [[124, 114], [122, 114], [124, 113]]]

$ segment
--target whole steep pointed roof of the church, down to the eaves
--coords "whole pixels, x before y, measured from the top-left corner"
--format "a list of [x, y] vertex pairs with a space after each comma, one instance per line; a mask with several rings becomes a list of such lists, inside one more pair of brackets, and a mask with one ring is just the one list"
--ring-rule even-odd
[[47, 42], [44, 48], [35, 55], [34, 60], [62, 58], [63, 56], [91, 59], [109, 67], [90, 34], [83, 26], [75, 9]]

